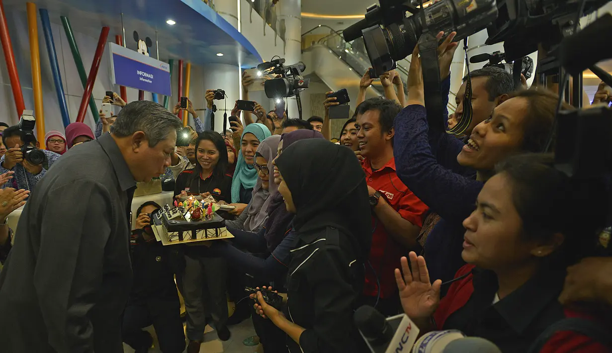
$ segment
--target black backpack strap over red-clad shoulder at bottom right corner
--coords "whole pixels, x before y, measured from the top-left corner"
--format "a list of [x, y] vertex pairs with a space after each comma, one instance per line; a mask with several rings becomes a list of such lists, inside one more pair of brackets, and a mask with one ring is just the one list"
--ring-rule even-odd
[[610, 334], [600, 325], [589, 319], [567, 318], [554, 322], [554, 324], [548, 326], [548, 328], [535, 339], [534, 343], [531, 344], [528, 353], [540, 352], [544, 344], [546, 344], [555, 333], [561, 331], [580, 333], [588, 336], [594, 341], [605, 344], [605, 346], [612, 347], [612, 339]]

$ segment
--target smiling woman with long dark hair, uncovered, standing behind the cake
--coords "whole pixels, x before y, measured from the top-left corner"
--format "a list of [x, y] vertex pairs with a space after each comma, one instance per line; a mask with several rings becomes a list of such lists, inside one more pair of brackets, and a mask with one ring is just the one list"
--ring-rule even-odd
[[[217, 202], [230, 201], [232, 178], [226, 174], [228, 152], [221, 135], [205, 131], [196, 141], [195, 169], [189, 169], [176, 179], [174, 196], [209, 196]], [[228, 307], [225, 297], [227, 262], [225, 258], [206, 254], [203, 247], [185, 249], [185, 271], [182, 274], [182, 294], [187, 311], [188, 352], [200, 351], [207, 319], [220, 340], [230, 339], [226, 322]]]

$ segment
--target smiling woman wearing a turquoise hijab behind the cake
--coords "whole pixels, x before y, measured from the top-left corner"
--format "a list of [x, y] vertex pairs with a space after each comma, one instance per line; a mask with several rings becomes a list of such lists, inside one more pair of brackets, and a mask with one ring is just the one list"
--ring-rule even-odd
[[230, 213], [240, 215], [251, 202], [253, 188], [257, 182], [255, 169], [255, 152], [259, 144], [270, 136], [270, 130], [264, 124], [249, 124], [241, 137], [241, 149], [238, 152], [236, 171], [231, 185], [231, 202], [236, 209]]

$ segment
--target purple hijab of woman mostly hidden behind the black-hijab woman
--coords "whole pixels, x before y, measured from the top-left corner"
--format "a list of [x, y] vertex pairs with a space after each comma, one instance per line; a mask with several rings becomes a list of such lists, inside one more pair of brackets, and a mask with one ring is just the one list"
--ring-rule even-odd
[[[320, 132], [315, 130], [300, 129], [289, 133], [283, 133], [280, 137], [280, 141], [283, 143], [283, 149], [291, 146], [296, 141], [305, 138], [324, 138]], [[285, 200], [283, 195], [275, 193], [270, 196], [270, 203], [267, 208], [268, 219], [266, 221], [266, 232], [264, 237], [266, 238], [268, 251], [272, 253], [274, 249], [283, 241], [285, 234], [288, 232], [291, 220], [293, 220], [294, 214], [287, 211], [285, 207]]]

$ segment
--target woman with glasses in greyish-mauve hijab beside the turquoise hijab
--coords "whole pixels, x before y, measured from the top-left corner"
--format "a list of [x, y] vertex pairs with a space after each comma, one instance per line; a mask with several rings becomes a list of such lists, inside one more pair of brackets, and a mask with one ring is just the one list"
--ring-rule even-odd
[[257, 232], [264, 226], [268, 218], [267, 207], [272, 201], [271, 197], [278, 193], [278, 185], [270, 182], [270, 171], [274, 168], [272, 160], [276, 158], [279, 143], [280, 136], [274, 135], [264, 139], [257, 147], [253, 165], [258, 172], [258, 178], [253, 188], [251, 202], [236, 220], [225, 221], [228, 227]]

